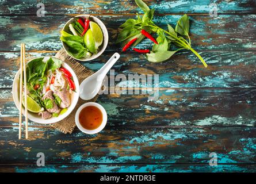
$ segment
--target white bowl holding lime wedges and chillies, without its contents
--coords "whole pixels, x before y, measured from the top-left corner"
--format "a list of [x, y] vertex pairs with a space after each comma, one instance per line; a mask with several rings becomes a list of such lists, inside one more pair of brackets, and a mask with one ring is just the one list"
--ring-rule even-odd
[[85, 18], [89, 18], [90, 16], [90, 20], [97, 23], [101, 30], [102, 30], [102, 33], [103, 33], [103, 43], [102, 45], [100, 46], [99, 50], [98, 50], [98, 53], [97, 54], [93, 54], [91, 55], [90, 57], [86, 57], [86, 58], [80, 58], [80, 59], [77, 59], [73, 56], [71, 56], [67, 51], [68, 51], [68, 46], [62, 41], [62, 47], [64, 48], [64, 50], [67, 52], [68, 55], [70, 55], [71, 57], [73, 57], [74, 59], [77, 59], [79, 61], [82, 61], [82, 62], [86, 62], [86, 61], [90, 61], [90, 60], [93, 60], [95, 58], [97, 58], [98, 56], [100, 56], [106, 49], [106, 46], [108, 45], [108, 40], [109, 40], [109, 35], [108, 35], [108, 30], [106, 29], [106, 26], [103, 24], [103, 22], [98, 19], [97, 17], [94, 17], [94, 16], [91, 16], [89, 14], [82, 14], [82, 15], [79, 15], [79, 16], [75, 16], [74, 18], [71, 18], [69, 21], [67, 21], [67, 23], [64, 25], [63, 29], [64, 31], [66, 32], [70, 32], [69, 28], [68, 28], [68, 25], [74, 21], [76, 21], [76, 18], [78, 17], [81, 17], [83, 18], [83, 20], [85, 20]]

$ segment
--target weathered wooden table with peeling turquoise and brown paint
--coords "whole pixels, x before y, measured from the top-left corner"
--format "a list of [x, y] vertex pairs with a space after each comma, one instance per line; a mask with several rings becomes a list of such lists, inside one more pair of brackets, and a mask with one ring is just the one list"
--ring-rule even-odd
[[[28, 58], [55, 55], [62, 47], [64, 23], [77, 14], [93, 14], [110, 37], [102, 56], [82, 63], [97, 71], [113, 52], [120, 52], [114, 44], [117, 28], [139, 9], [132, 0], [45, 0], [45, 17], [37, 17], [38, 1], [0, 2], [0, 171], [256, 171], [255, 1], [216, 1], [217, 17], [209, 16], [209, 4], [215, 1], [146, 2], [163, 27], [189, 14], [193, 47], [208, 68], [187, 51], [156, 64], [132, 51], [122, 53], [113, 67], [116, 74], [159, 74], [158, 99], [100, 95], [97, 102], [109, 118], [104, 131], [85, 135], [76, 129], [64, 135], [29, 122], [29, 140], [18, 140], [12, 98], [20, 43], [26, 44]], [[149, 44], [144, 40], [140, 47]], [[45, 154], [45, 167], [36, 166], [38, 152]], [[209, 166], [211, 152], [217, 154], [217, 166]]]

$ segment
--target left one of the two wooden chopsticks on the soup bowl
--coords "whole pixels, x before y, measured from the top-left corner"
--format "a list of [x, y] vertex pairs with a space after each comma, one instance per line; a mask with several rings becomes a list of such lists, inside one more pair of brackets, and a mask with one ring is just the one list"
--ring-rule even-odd
[[21, 68], [20, 68], [20, 119], [18, 123], [18, 139], [21, 139], [21, 122], [22, 122], [22, 80], [23, 80], [23, 48], [21, 44]]

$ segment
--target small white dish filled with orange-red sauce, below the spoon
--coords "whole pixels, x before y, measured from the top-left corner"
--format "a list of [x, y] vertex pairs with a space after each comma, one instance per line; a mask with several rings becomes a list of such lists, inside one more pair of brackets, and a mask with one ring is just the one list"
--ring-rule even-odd
[[94, 134], [102, 131], [108, 116], [106, 110], [95, 102], [81, 105], [75, 113], [75, 124], [84, 133]]

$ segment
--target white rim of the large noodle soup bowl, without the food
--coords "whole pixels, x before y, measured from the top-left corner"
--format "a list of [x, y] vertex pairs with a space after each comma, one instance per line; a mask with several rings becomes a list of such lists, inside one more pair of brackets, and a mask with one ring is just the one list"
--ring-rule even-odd
[[[36, 59], [36, 58], [34, 58], [34, 59]], [[46, 61], [48, 59], [49, 59], [49, 57], [44, 57], [43, 61]], [[31, 60], [33, 60], [33, 59], [31, 59]], [[29, 62], [31, 60], [29, 60]], [[28, 65], [29, 62], [26, 63], [26, 66]], [[38, 122], [40, 124], [52, 124], [54, 122], [58, 122], [60, 120], [63, 120], [64, 118], [66, 118], [72, 112], [72, 110], [75, 108], [75, 106], [77, 105], [77, 102], [79, 99], [79, 82], [78, 82], [77, 75], [75, 75], [75, 72], [72, 70], [72, 68], [70, 66], [68, 66], [68, 64], [63, 62], [62, 66], [64, 68], [67, 68], [67, 70], [70, 71], [70, 73], [72, 74], [72, 77], [73, 77], [73, 80], [75, 83], [75, 90], [77, 91], [71, 97], [71, 104], [67, 108], [67, 112], [65, 112], [64, 114], [62, 114], [58, 117], [51, 117], [51, 118], [44, 120], [41, 118], [41, 116], [38, 116], [37, 113], [32, 113], [32, 112], [28, 111], [29, 120]], [[20, 108], [20, 70], [18, 70], [17, 74], [14, 77], [14, 81], [13, 81], [13, 100], [14, 100], [16, 107], [19, 109]], [[22, 106], [22, 114], [25, 114], [25, 109], [23, 106]]]

